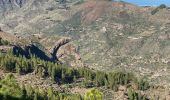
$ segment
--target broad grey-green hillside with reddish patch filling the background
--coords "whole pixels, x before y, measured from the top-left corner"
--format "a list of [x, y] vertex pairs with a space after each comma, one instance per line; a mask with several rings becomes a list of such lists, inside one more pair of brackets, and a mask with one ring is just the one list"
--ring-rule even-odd
[[71, 37], [78, 58], [90, 68], [132, 70], [168, 85], [168, 8], [152, 14], [155, 7], [125, 2], [70, 0], [66, 5], [55, 0], [28, 0], [21, 8], [7, 11], [0, 26], [25, 37], [44, 34], [38, 41], [48, 48], [55, 44], [55, 37]]

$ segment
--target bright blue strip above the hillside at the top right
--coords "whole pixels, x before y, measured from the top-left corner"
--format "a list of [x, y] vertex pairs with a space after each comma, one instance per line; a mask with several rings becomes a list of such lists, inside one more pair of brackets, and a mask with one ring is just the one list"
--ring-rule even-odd
[[139, 6], [159, 6], [165, 4], [170, 7], [170, 0], [122, 0]]

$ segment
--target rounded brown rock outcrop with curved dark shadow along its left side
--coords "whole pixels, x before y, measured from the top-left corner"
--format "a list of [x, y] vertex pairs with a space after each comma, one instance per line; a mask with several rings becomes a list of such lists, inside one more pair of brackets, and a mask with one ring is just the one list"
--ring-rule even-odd
[[58, 60], [70, 66], [83, 66], [77, 47], [71, 43], [71, 39], [63, 38], [57, 41], [51, 50], [52, 60]]

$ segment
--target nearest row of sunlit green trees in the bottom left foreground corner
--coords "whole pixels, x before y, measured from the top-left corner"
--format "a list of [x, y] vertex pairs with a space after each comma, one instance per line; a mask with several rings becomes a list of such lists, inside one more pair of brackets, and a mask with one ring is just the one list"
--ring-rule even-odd
[[31, 86], [20, 87], [13, 74], [0, 81], [0, 100], [82, 100], [79, 94], [66, 94], [48, 91]]

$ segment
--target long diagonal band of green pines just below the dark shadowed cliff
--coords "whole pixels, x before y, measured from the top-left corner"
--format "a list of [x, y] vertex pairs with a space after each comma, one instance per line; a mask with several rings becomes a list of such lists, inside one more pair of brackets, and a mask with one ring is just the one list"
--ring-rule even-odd
[[137, 78], [132, 73], [124, 71], [105, 73], [87, 68], [69, 68], [64, 65], [41, 60], [35, 56], [32, 56], [31, 59], [26, 59], [25, 57], [17, 57], [12, 53], [8, 53], [0, 57], [0, 66], [1, 69], [7, 72], [17, 72], [18, 74], [34, 72], [41, 77], [50, 76], [54, 82], [60, 84], [72, 83], [74, 80], [81, 78], [84, 79], [85, 86], [89, 87], [106, 86], [116, 90], [119, 85], [126, 85], [133, 82], [141, 90], [149, 88], [146, 80], [136, 82]]

